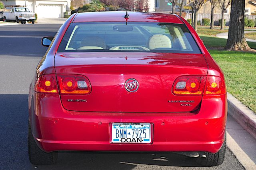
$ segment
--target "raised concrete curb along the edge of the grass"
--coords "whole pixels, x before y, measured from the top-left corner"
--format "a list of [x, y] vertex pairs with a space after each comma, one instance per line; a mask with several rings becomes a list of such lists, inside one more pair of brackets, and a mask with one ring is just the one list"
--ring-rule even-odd
[[228, 114], [230, 114], [248, 133], [256, 138], [256, 114], [230, 93], [228, 94]]

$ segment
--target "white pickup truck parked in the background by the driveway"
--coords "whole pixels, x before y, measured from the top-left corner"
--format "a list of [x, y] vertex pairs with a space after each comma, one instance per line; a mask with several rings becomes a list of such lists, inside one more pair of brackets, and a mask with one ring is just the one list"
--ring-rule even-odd
[[31, 21], [34, 24], [36, 20], [35, 13], [30, 12], [26, 7], [12, 7], [10, 11], [3, 12], [3, 18], [5, 21], [16, 20], [17, 23], [21, 22], [26, 24], [26, 21]]

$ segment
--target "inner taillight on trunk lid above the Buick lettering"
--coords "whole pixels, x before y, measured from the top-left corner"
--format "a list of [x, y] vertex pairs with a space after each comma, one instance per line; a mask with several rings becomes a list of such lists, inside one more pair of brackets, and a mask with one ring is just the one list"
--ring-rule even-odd
[[91, 84], [86, 76], [75, 74], [58, 75], [60, 94], [89, 94]]

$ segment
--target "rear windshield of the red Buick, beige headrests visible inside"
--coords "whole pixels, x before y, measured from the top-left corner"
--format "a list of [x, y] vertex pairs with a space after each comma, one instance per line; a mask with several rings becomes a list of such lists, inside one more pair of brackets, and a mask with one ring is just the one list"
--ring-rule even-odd
[[148, 22], [71, 23], [58, 52], [167, 52], [200, 54], [183, 24]]

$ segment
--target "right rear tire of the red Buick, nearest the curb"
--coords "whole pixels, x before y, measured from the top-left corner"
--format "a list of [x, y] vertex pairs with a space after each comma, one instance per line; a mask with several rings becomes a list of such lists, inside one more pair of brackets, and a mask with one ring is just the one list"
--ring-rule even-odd
[[[220, 148], [219, 152], [212, 154], [209, 152], [205, 152], [206, 158], [197, 158], [196, 162], [202, 166], [217, 166], [221, 165], [225, 158], [226, 152], [226, 133], [225, 133], [225, 141]], [[201, 157], [201, 156], [200, 156]]]

